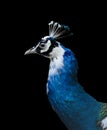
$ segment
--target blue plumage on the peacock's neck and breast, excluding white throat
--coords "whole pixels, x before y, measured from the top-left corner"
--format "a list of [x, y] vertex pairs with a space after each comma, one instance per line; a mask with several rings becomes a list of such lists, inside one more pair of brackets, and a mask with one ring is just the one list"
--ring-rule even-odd
[[[77, 125], [82, 130], [100, 130], [94, 122], [97, 117], [92, 117], [95, 112], [99, 112], [100, 105], [78, 83], [78, 64], [73, 52], [66, 48], [64, 50], [64, 66], [48, 77], [49, 101], [69, 130], [77, 130]], [[92, 122], [91, 120], [94, 124], [88, 126], [87, 122]]]

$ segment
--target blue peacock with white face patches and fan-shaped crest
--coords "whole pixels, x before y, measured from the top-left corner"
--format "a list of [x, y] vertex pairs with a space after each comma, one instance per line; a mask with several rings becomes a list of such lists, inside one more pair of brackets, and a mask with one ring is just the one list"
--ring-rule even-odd
[[71, 49], [58, 39], [70, 35], [70, 27], [49, 22], [49, 36], [26, 54], [50, 59], [46, 93], [52, 109], [68, 130], [107, 130], [107, 103], [97, 101], [78, 81], [78, 62]]

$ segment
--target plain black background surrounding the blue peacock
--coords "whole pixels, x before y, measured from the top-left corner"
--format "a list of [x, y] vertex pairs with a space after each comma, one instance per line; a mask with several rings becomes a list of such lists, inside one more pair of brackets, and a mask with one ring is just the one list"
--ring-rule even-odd
[[51, 1], [14, 6], [11, 10], [12, 64], [7, 73], [8, 77], [12, 75], [7, 89], [11, 98], [6, 98], [7, 120], [12, 117], [11, 127], [14, 122], [15, 128], [66, 130], [46, 95], [49, 60], [39, 55], [24, 56], [27, 49], [48, 35], [51, 20], [71, 27], [74, 35], [59, 41], [75, 53], [79, 64], [78, 79], [86, 92], [98, 101], [107, 102], [107, 27], [102, 8], [100, 3], [58, 4]]

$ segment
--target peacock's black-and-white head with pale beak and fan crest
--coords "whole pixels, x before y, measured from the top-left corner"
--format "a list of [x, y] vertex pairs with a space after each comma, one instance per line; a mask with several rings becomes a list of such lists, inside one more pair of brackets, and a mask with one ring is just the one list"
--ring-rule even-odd
[[[68, 26], [51, 21], [49, 23], [49, 36], [41, 38], [40, 42], [25, 52], [26, 54], [39, 54], [47, 58], [54, 58], [62, 51], [57, 39], [70, 35]], [[66, 34], [66, 35], [65, 35]]]

